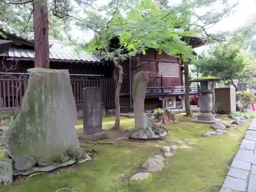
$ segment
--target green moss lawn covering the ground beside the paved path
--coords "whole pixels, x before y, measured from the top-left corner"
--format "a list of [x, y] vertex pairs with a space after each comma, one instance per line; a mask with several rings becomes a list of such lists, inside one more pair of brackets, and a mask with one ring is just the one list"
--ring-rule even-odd
[[[77, 192], [219, 191], [249, 121], [239, 127], [239, 130], [230, 130], [227, 135], [204, 138], [201, 134], [211, 131], [209, 125], [192, 123], [189, 118], [183, 117], [183, 114], [179, 117], [181, 122], [167, 126], [168, 129], [172, 129], [168, 131], [168, 141], [118, 140], [115, 141], [117, 145], [86, 143], [84, 145], [97, 150], [93, 161], [75, 168], [59, 169], [49, 174], [23, 178], [12, 185], [1, 186], [0, 191], [54, 192], [60, 188], [70, 188]], [[131, 129], [133, 121], [134, 119], [121, 118], [123, 129]], [[106, 129], [113, 123], [114, 117], [105, 117], [103, 120]], [[78, 120], [78, 132], [81, 128], [82, 121]], [[147, 158], [160, 154], [161, 146], [171, 145], [177, 140], [187, 141], [188, 145], [180, 147], [173, 157], [166, 159], [164, 169], [153, 174], [152, 182], [141, 185], [129, 184], [125, 179], [122, 182], [115, 182], [121, 174], [129, 178], [130, 173], [136, 172]]]

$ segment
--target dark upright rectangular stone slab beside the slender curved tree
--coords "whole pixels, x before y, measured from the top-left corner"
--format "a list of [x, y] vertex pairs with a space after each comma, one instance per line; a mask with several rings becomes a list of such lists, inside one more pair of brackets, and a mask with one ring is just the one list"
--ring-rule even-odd
[[83, 135], [102, 132], [101, 91], [100, 88], [82, 89]]

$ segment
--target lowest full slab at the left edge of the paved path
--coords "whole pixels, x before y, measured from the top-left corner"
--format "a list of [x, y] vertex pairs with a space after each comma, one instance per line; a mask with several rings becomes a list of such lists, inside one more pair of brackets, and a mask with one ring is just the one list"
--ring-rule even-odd
[[246, 180], [233, 178], [229, 176], [226, 177], [223, 184], [224, 188], [238, 190], [238, 191], [245, 191], [246, 186], [247, 186]]

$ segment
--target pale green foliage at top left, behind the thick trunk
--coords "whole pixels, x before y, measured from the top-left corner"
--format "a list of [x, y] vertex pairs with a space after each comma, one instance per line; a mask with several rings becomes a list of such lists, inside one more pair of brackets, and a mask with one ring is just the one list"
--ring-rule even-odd
[[[25, 39], [34, 39], [33, 3], [32, 1], [7, 0], [0, 3], [0, 33], [2, 31]], [[56, 11], [65, 11], [67, 6], [48, 2], [49, 37], [59, 40], [69, 38], [70, 26], [66, 19], [55, 16]]]

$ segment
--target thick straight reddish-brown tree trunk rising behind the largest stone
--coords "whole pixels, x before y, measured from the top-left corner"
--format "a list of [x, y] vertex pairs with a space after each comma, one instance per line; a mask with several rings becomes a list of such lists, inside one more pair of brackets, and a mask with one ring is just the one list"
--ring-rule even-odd
[[47, 0], [34, 1], [35, 67], [50, 68]]

